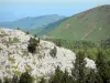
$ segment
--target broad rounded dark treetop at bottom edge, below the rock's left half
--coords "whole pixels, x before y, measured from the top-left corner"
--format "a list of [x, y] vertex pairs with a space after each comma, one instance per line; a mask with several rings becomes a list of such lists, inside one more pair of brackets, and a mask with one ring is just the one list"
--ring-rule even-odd
[[25, 72], [21, 74], [19, 83], [32, 83], [32, 76], [29, 74], [29, 72]]

